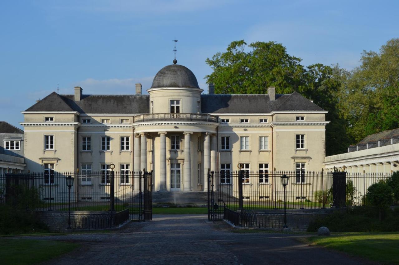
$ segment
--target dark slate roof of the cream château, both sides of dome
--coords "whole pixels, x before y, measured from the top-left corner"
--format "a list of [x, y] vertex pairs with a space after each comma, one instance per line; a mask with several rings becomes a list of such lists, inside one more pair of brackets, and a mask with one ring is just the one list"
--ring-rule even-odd
[[[53, 92], [26, 111], [77, 111], [79, 113], [149, 113], [149, 95], [74, 95]], [[322, 111], [297, 92], [269, 95], [201, 95], [202, 113], [270, 113], [272, 111]]]

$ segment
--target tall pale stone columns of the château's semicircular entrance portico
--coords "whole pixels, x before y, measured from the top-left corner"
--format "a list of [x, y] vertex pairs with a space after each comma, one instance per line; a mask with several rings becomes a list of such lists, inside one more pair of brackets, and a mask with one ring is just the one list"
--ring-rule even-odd
[[[156, 167], [158, 170], [156, 175], [159, 175], [160, 180], [160, 190], [167, 190], [167, 170], [166, 170], [166, 134], [165, 131], [158, 132], [160, 136], [160, 146], [159, 146], [159, 159], [160, 165]], [[184, 134], [184, 179], [183, 190], [191, 191], [192, 190], [192, 163], [191, 163], [191, 135], [193, 132], [187, 131], [183, 132]], [[147, 133], [138, 133], [134, 134], [134, 171], [141, 171], [143, 169], [147, 169]], [[203, 191], [207, 191], [208, 183], [207, 183], [207, 171], [210, 168], [211, 171], [217, 170], [216, 165], [216, 157], [217, 157], [217, 139], [216, 134], [212, 133], [204, 133], [204, 145], [203, 145]], [[154, 162], [154, 161], [152, 161]], [[155, 168], [155, 165], [154, 165]], [[135, 183], [136, 185], [136, 183]]]

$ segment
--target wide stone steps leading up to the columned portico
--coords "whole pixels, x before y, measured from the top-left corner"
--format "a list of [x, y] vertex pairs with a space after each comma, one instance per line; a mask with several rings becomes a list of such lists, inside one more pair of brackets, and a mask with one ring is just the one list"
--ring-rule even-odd
[[153, 204], [176, 204], [176, 205], [207, 205], [207, 192], [203, 191], [156, 191], [152, 193]]

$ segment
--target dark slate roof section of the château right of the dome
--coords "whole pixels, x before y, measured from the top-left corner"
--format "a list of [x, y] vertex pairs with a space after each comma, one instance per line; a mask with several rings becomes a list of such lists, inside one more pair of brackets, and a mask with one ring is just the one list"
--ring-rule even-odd
[[202, 113], [270, 113], [272, 111], [323, 111], [301, 94], [201, 95]]

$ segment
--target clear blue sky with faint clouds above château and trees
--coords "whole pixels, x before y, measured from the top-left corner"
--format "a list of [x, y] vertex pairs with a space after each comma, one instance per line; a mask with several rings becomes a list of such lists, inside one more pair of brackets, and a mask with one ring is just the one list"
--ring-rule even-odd
[[398, 1], [89, 0], [0, 2], [0, 120], [18, 126], [20, 113], [57, 90], [134, 94], [173, 60], [205, 89], [207, 57], [231, 41], [277, 41], [302, 64], [359, 65], [399, 37]]

